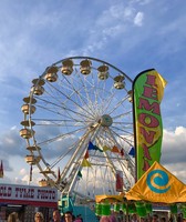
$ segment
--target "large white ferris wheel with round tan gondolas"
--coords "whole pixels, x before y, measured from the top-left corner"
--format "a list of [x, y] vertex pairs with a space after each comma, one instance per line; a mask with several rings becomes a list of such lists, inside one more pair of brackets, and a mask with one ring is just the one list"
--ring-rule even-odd
[[32, 80], [23, 99], [25, 161], [35, 165], [40, 185], [62, 194], [94, 199], [134, 184], [132, 79], [90, 57], [62, 59]]

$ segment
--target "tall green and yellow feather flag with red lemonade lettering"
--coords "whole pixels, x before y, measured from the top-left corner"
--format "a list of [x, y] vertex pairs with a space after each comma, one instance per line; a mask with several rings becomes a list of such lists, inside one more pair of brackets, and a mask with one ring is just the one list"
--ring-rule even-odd
[[166, 81], [154, 69], [141, 72], [133, 83], [136, 180], [161, 160], [163, 124], [161, 101]]

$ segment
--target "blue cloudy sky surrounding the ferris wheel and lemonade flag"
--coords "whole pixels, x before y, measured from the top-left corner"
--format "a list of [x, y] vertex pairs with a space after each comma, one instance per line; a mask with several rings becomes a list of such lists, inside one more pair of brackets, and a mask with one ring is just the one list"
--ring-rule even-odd
[[61, 59], [87, 56], [131, 79], [149, 68], [166, 79], [162, 164], [186, 183], [185, 11], [182, 0], [1, 0], [0, 182], [28, 183], [19, 130], [32, 79]]

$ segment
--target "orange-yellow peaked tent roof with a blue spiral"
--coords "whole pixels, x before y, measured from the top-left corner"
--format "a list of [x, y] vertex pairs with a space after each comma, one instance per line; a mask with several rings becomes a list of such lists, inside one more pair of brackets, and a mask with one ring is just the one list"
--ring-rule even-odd
[[125, 196], [135, 201], [186, 202], [186, 185], [159, 163], [154, 162]]

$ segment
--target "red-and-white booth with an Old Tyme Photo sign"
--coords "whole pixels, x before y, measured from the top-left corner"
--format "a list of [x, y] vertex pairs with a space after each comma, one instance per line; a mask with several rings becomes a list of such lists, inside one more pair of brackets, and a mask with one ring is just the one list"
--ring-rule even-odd
[[21, 222], [33, 222], [40, 211], [44, 221], [50, 221], [58, 208], [58, 190], [49, 186], [0, 184], [0, 222], [7, 221], [11, 212], [18, 212]]

